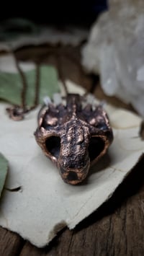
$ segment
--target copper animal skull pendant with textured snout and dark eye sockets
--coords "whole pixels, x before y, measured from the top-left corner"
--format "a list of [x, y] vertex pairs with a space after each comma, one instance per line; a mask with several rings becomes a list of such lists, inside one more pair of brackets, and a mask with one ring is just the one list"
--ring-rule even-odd
[[113, 140], [107, 113], [101, 105], [82, 106], [81, 96], [68, 94], [66, 105], [50, 102], [40, 110], [37, 144], [58, 167], [63, 180], [76, 185], [107, 151]]

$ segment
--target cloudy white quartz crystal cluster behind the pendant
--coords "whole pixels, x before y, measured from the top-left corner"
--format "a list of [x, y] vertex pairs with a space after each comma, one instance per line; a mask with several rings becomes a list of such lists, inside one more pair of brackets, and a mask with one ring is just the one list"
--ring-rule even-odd
[[144, 1], [109, 0], [82, 49], [87, 71], [99, 73], [102, 88], [144, 116]]

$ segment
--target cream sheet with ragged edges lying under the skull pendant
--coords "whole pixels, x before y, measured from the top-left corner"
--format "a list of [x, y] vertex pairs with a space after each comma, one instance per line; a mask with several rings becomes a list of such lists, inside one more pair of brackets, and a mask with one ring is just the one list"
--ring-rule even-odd
[[[84, 90], [67, 81], [71, 92]], [[88, 99], [93, 99], [89, 95]], [[0, 225], [44, 247], [64, 226], [73, 229], [108, 198], [125, 179], [144, 151], [138, 136], [141, 118], [105, 105], [114, 131], [108, 154], [89, 172], [81, 185], [68, 185], [35, 141], [37, 112], [19, 122], [0, 104], [0, 151], [9, 160], [9, 172], [0, 201]]]

